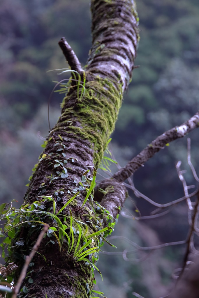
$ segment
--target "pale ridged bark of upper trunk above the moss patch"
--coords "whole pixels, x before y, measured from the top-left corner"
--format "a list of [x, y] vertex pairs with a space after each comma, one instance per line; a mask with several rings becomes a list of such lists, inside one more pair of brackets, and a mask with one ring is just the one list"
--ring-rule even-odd
[[120, 80], [127, 88], [139, 40], [135, 1], [91, 1], [92, 49], [89, 69]]

